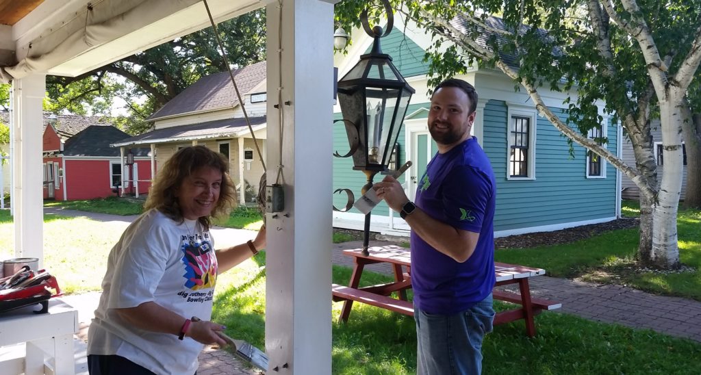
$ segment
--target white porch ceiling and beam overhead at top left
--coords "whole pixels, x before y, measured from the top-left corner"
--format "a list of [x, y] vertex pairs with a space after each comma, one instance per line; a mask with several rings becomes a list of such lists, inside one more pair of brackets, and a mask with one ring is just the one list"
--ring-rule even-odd
[[[265, 2], [207, 4], [222, 22]], [[34, 72], [78, 76], [210, 25], [201, 0], [0, 0], [2, 6], [14, 10], [0, 12], [7, 18], [0, 22], [2, 81]]]

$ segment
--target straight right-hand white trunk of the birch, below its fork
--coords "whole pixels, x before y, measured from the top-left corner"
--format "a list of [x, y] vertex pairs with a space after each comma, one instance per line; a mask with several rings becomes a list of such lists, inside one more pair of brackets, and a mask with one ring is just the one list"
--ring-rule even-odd
[[[674, 88], [669, 89], [674, 91]], [[653, 247], [650, 261], [660, 268], [679, 268], [679, 244], [676, 235], [676, 214], [681, 196], [682, 154], [681, 125], [682, 98], [679, 93], [668, 93], [660, 101], [662, 122], [662, 184], [657, 205], [653, 209]]]

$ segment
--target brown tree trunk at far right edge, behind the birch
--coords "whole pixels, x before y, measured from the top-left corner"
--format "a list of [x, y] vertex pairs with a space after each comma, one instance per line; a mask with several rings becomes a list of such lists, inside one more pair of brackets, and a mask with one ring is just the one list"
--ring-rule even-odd
[[686, 146], [684, 208], [699, 210], [701, 209], [701, 114], [693, 114], [689, 117], [682, 125]]

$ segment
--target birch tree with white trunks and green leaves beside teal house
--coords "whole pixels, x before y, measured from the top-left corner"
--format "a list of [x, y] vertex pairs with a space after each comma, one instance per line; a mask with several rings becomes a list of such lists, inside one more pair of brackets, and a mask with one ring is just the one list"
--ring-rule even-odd
[[[463, 73], [473, 63], [498, 69], [571, 142], [629, 177], [641, 196], [639, 260], [662, 268], [679, 266], [681, 132], [684, 95], [701, 60], [700, 0], [407, 0], [393, 5], [433, 34], [427, 54], [432, 83]], [[336, 18], [357, 26], [365, 6], [365, 1], [345, 0], [336, 5]], [[576, 93], [563, 103], [569, 116], [565, 121], [545, 106], [543, 89]], [[601, 146], [599, 141], [606, 139], [587, 137], [601, 126], [597, 102], [624, 128], [635, 165]], [[650, 129], [655, 105], [665, 160], [659, 184]]]

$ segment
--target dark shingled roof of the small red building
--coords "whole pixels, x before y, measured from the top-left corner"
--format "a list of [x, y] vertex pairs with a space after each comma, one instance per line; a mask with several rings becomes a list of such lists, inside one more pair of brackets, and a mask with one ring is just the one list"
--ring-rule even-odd
[[[70, 137], [64, 146], [64, 156], [120, 156], [119, 149], [109, 146], [129, 135], [114, 126], [90, 125]], [[149, 156], [150, 148], [133, 149], [135, 156]]]

